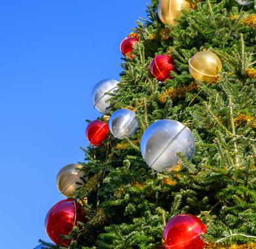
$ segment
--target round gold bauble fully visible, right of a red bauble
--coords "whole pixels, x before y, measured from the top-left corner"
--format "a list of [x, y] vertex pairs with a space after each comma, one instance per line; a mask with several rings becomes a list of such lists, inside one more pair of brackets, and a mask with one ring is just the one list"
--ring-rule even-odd
[[192, 77], [198, 81], [206, 82], [215, 79], [222, 67], [219, 57], [210, 51], [197, 52], [188, 61], [188, 64]]

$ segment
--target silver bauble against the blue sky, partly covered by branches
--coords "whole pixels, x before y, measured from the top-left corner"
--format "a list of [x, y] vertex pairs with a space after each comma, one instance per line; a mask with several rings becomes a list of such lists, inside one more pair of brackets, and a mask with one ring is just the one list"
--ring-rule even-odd
[[113, 93], [117, 89], [118, 83], [115, 79], [104, 79], [93, 88], [93, 104], [100, 113], [104, 114], [110, 111], [110, 102], [108, 100], [110, 100], [111, 96], [106, 92]]

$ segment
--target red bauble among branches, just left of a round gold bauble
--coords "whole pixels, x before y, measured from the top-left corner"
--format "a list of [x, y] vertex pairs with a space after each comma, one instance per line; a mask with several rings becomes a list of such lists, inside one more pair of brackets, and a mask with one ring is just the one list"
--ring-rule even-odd
[[173, 58], [167, 54], [157, 55], [150, 64], [150, 73], [158, 79], [158, 81], [171, 79], [171, 71], [176, 71], [176, 69], [174, 67]]

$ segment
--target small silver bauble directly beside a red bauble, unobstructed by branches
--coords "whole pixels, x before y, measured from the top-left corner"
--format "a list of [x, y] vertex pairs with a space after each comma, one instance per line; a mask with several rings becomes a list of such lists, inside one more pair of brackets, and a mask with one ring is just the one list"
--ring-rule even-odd
[[115, 138], [123, 139], [133, 136], [138, 125], [135, 112], [129, 109], [119, 109], [110, 117], [110, 132]]

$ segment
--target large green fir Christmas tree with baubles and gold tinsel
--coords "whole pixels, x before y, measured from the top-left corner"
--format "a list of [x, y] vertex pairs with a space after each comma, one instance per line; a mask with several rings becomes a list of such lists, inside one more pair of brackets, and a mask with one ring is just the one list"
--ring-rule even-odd
[[[186, 2], [188, 9], [175, 22], [177, 16], [170, 21], [161, 10], [164, 2], [152, 0], [148, 19], [129, 35], [132, 50], [123, 51], [120, 82], [106, 92], [111, 108], [98, 118], [113, 123], [112, 114], [127, 109], [138, 127], [119, 137], [112, 124], [115, 136], [83, 148], [83, 182], [74, 200], [85, 220], [63, 238], [72, 249], [164, 248], [165, 225], [178, 214], [193, 214], [207, 225], [200, 234], [206, 248], [256, 247], [256, 5]], [[201, 63], [202, 52], [207, 60], [215, 58], [215, 74]], [[179, 161], [164, 169], [148, 165], [145, 157], [159, 153], [168, 138], [159, 136], [159, 145], [151, 141], [143, 157], [141, 145], [148, 127], [163, 120], [179, 121], [195, 140], [194, 155], [177, 148], [173, 157]], [[92, 136], [93, 144], [101, 134]]]

